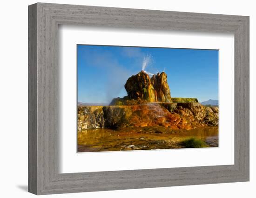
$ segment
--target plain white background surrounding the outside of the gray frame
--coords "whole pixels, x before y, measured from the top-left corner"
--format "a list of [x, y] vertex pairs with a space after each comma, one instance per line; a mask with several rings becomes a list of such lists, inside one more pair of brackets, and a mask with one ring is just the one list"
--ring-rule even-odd
[[[27, 6], [34, 0], [1, 2], [0, 30], [0, 196], [27, 198]], [[256, 197], [255, 115], [256, 12], [253, 0], [45, 0], [49, 3], [114, 6], [250, 16], [250, 182], [50, 195], [56, 198], [254, 198]]]

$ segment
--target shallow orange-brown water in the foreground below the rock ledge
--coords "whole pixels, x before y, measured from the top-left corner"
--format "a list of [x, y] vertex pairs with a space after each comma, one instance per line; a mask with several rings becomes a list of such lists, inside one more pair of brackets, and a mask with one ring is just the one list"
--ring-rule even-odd
[[196, 137], [218, 147], [218, 127], [191, 130], [168, 128], [109, 128], [78, 131], [78, 152], [182, 148], [182, 140]]

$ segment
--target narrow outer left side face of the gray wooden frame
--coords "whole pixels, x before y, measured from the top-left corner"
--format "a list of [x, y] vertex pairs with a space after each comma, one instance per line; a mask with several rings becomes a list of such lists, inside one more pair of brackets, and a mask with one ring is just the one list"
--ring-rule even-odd
[[37, 5], [28, 9], [28, 192], [37, 193]]

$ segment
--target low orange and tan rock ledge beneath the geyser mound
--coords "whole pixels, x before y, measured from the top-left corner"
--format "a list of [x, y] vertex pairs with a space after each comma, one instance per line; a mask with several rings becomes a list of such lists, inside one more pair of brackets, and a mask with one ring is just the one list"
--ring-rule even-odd
[[218, 107], [197, 102], [78, 107], [78, 130], [162, 126], [193, 129], [218, 126]]

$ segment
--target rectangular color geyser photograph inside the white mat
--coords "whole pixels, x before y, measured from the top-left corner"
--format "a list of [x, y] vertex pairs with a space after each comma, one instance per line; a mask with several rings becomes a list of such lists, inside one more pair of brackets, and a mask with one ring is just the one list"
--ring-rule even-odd
[[218, 147], [218, 52], [77, 45], [77, 152]]

